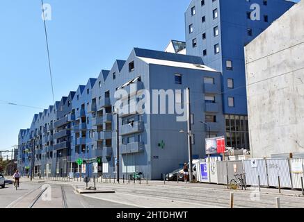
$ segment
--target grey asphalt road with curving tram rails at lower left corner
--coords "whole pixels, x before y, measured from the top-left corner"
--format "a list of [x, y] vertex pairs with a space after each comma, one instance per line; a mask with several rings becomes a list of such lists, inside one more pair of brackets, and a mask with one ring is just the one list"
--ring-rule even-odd
[[0, 189], [0, 208], [129, 208], [131, 205], [98, 200], [75, 193], [71, 185], [20, 182]]

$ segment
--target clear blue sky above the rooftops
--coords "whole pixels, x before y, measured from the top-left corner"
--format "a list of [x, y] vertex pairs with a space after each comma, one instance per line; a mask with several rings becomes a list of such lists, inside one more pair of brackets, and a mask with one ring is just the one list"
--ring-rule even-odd
[[[20, 128], [29, 128], [53, 102], [47, 66], [40, 0], [0, 1], [0, 150], [17, 144]], [[136, 47], [163, 50], [170, 39], [184, 40], [184, 11], [190, 0], [45, 0], [55, 99], [111, 69]]]

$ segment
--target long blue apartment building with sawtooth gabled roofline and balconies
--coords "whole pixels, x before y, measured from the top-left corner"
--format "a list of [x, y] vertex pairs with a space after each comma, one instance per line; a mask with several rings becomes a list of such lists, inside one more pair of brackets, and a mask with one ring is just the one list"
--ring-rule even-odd
[[[209, 132], [201, 121], [210, 119], [213, 134], [225, 133], [221, 73], [203, 65], [198, 56], [136, 48], [127, 60], [116, 60], [111, 70], [102, 70], [97, 78], [90, 78], [86, 85], [79, 85], [54, 106], [35, 114], [31, 127], [19, 132], [18, 168], [26, 173], [26, 168], [31, 171], [33, 167], [36, 176], [68, 176], [69, 173], [100, 176], [102, 173], [113, 178], [119, 158], [120, 177], [127, 178], [127, 174], [138, 171], [149, 180], [160, 179], [161, 173], [188, 162], [187, 135], [181, 133], [187, 131], [186, 121], [177, 121], [177, 113], [128, 112], [119, 114], [117, 128], [115, 102], [118, 99], [114, 94], [118, 89], [125, 89], [127, 96], [120, 100], [129, 104], [134, 92], [146, 89], [153, 95], [153, 90], [173, 89], [175, 104], [182, 105], [186, 87], [190, 88], [193, 101], [193, 157], [205, 157], [205, 137]], [[170, 93], [165, 97], [167, 110], [169, 96]], [[152, 110], [153, 99], [147, 104]], [[160, 102], [157, 104], [160, 110]], [[86, 163], [85, 170], [77, 165], [79, 158]], [[93, 162], [97, 162], [98, 172], [93, 170]]]

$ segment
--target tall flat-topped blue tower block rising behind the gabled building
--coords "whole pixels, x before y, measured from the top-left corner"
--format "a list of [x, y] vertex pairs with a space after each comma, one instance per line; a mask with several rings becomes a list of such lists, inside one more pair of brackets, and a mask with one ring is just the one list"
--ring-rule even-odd
[[[222, 73], [228, 147], [250, 148], [244, 46], [293, 5], [285, 0], [193, 0], [185, 12], [186, 54], [202, 57]], [[259, 20], [252, 20], [256, 9]]]

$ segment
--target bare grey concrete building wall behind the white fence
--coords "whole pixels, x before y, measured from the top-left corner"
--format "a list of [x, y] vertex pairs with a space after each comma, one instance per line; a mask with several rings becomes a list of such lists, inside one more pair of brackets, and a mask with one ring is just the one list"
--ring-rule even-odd
[[304, 153], [304, 1], [245, 47], [251, 155]]

